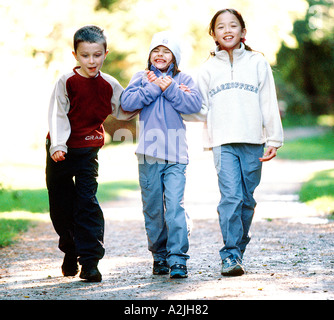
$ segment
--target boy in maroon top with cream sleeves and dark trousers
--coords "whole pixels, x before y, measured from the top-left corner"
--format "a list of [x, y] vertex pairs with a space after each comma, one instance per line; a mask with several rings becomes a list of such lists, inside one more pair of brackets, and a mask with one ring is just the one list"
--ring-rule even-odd
[[[74, 35], [79, 66], [60, 77], [52, 93], [47, 136], [46, 183], [50, 216], [65, 253], [64, 276], [100, 282], [97, 265], [104, 255], [104, 218], [96, 198], [98, 151], [109, 114], [129, 120], [120, 107], [119, 82], [100, 71], [108, 54], [103, 30], [86, 26]], [[75, 178], [75, 180], [73, 180]]]

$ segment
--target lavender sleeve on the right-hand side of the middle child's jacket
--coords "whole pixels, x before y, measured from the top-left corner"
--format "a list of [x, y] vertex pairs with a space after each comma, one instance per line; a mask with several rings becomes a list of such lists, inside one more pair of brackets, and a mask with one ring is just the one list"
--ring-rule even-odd
[[[190, 92], [189, 90], [181, 90], [181, 83], [186, 85]], [[201, 110], [202, 96], [197, 89], [195, 82], [188, 75], [180, 75], [180, 84], [172, 79], [172, 83], [163, 92], [163, 96], [171, 103], [172, 107], [180, 113], [191, 114]]]

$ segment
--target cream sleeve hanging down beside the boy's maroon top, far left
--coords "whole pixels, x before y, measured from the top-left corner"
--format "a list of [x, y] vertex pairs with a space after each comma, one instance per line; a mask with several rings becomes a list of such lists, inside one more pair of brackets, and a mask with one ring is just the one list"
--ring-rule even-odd
[[[66, 142], [71, 134], [71, 125], [67, 117], [70, 102], [66, 91], [66, 76], [62, 76], [52, 92], [49, 106], [49, 132], [51, 137], [50, 155], [57, 151], [67, 153]], [[61, 157], [57, 161], [62, 161]]]

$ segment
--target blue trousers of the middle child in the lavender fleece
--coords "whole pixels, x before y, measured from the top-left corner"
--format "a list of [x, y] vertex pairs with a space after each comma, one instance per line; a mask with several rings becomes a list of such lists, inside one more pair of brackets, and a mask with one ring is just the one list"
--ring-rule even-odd
[[148, 249], [155, 261], [186, 265], [190, 224], [184, 209], [186, 164], [138, 155]]

